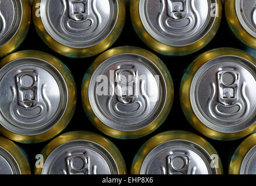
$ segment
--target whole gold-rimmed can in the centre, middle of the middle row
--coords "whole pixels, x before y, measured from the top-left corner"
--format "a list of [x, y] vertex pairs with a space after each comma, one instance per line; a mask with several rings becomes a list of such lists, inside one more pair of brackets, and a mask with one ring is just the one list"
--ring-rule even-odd
[[137, 47], [101, 54], [82, 84], [87, 117], [103, 133], [131, 139], [155, 131], [169, 115], [173, 81], [162, 60]]

